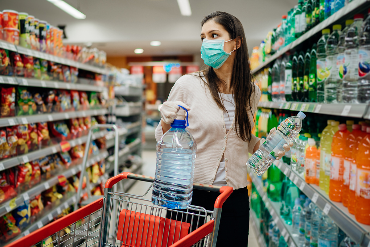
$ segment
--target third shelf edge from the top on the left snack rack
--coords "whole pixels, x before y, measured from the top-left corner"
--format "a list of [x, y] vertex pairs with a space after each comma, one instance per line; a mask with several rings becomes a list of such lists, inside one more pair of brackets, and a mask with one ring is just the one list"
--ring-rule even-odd
[[0, 127], [13, 126], [17, 124], [40, 123], [48, 121], [57, 121], [73, 119], [76, 117], [87, 117], [107, 114], [107, 109], [85, 110], [85, 111], [67, 111], [63, 113], [35, 114], [19, 117], [4, 117], [0, 119]]

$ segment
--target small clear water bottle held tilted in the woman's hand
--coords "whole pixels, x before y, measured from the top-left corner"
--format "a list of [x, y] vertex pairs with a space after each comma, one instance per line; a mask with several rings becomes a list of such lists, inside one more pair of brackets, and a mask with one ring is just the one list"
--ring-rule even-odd
[[261, 176], [275, 161], [277, 153], [283, 151], [283, 145], [293, 141], [302, 128], [302, 120], [306, 117], [300, 111], [297, 116], [288, 117], [263, 143], [263, 145], [249, 158], [247, 166], [258, 176]]

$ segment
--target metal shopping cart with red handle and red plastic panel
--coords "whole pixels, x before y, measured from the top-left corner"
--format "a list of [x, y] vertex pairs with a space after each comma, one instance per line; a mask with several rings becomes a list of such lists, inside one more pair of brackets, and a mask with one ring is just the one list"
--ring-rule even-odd
[[[124, 179], [151, 184], [141, 196], [112, 192], [112, 187]], [[36, 244], [39, 247], [214, 247], [222, 204], [233, 192], [233, 188], [194, 184], [194, 189], [221, 193], [213, 211], [198, 206], [172, 210], [151, 203], [148, 192], [153, 181], [153, 177], [133, 173], [118, 174], [105, 184], [104, 198], [81, 207], [7, 247], [30, 247]], [[117, 201], [115, 212], [112, 210], [114, 201]]]

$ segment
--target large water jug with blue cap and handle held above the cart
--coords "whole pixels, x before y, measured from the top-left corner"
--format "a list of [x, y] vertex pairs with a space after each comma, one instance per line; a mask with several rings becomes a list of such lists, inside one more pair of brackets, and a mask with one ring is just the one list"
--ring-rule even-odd
[[152, 203], [158, 206], [185, 209], [192, 200], [196, 143], [186, 113], [186, 121], [175, 119], [157, 143]]

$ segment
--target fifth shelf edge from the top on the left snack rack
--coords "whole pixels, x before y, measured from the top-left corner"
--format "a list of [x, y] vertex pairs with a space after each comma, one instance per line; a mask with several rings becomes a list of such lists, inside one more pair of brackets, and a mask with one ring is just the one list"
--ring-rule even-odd
[[[95, 164], [97, 161], [100, 161], [106, 157], [108, 157], [108, 152], [106, 150], [101, 151], [98, 155], [90, 158], [87, 161], [87, 167], [90, 167], [92, 164]], [[54, 177], [48, 179], [47, 181], [37, 184], [36, 186], [24, 192], [23, 194], [18, 195], [16, 198], [13, 198], [10, 201], [6, 201], [0, 204], [0, 217], [6, 213], [9, 213], [11, 210], [14, 210], [15, 208], [21, 206], [24, 203], [24, 201], [28, 200], [29, 198], [32, 198], [40, 194], [42, 191], [47, 190], [48, 188], [58, 184], [59, 183], [58, 177], [60, 176], [64, 176], [66, 178], [72, 177], [78, 172], [80, 172], [81, 168], [82, 168], [82, 164], [73, 166], [69, 168], [68, 170], [63, 171], [62, 173], [55, 175]]]

